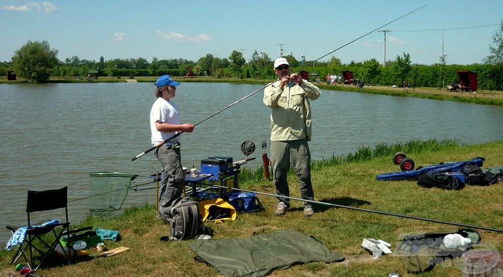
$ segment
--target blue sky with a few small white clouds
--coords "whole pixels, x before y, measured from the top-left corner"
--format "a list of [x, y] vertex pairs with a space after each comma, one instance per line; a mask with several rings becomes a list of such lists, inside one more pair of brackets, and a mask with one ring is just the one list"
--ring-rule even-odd
[[247, 61], [257, 51], [382, 64], [408, 53], [412, 64], [446, 55], [468, 65], [489, 55], [503, 20], [501, 0], [48, 1], [0, 0], [0, 61], [31, 40], [47, 41], [61, 61], [197, 61], [236, 50]]

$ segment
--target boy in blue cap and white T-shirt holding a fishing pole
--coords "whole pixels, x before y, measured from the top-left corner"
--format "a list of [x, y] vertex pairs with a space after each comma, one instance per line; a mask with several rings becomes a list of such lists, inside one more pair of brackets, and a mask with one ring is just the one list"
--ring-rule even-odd
[[[150, 131], [152, 133], [152, 146], [170, 139], [180, 132], [191, 133], [194, 125], [181, 124], [177, 106], [171, 99], [177, 91], [176, 82], [170, 75], [163, 75], [155, 83], [155, 97], [157, 100], [150, 110]], [[159, 218], [164, 224], [171, 218], [170, 206], [182, 196], [185, 186], [185, 174], [182, 168], [180, 155], [180, 135], [155, 149], [155, 156], [162, 164], [161, 187], [159, 193]]]

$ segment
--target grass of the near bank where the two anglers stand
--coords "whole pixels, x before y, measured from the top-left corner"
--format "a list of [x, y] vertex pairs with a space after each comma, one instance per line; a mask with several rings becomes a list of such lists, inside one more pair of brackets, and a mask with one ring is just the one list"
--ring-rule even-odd
[[[392, 154], [403, 151], [414, 159], [416, 166], [438, 164], [445, 161], [464, 161], [484, 157], [484, 167], [503, 164], [503, 141], [479, 145], [460, 145], [456, 141], [411, 141], [404, 144], [378, 144], [374, 148], [361, 148], [348, 156], [314, 163], [312, 180], [315, 199], [319, 202], [376, 210], [414, 217], [458, 222], [476, 226], [503, 229], [500, 220], [503, 204], [500, 196], [503, 186], [496, 183], [487, 187], [466, 186], [459, 191], [424, 189], [413, 180], [377, 181], [376, 175], [399, 171], [392, 162]], [[256, 173], [258, 174], [258, 173]], [[244, 174], [243, 174], [244, 175]], [[243, 176], [244, 177], [244, 176]], [[289, 175], [291, 196], [299, 197], [295, 176]], [[251, 172], [243, 179], [243, 189], [274, 194], [271, 181], [257, 178]], [[239, 214], [234, 221], [221, 224], [205, 223], [214, 231], [213, 239], [241, 238], [270, 233], [277, 230], [296, 229], [313, 236], [329, 249], [347, 258], [341, 263], [312, 262], [295, 265], [289, 269], [275, 270], [271, 276], [387, 276], [398, 272], [403, 276], [460, 276], [462, 272], [451, 266], [436, 266], [432, 271], [410, 274], [405, 271], [398, 256], [386, 255], [376, 261], [361, 247], [363, 238], [382, 239], [394, 245], [398, 236], [415, 231], [431, 231], [452, 227], [420, 220], [405, 219], [345, 208], [318, 205], [310, 218], [302, 216], [302, 203], [292, 201], [285, 216], [274, 216], [276, 199], [259, 195], [266, 210], [259, 213]], [[18, 207], [20, 208], [20, 207]], [[70, 211], [71, 213], [71, 211]], [[89, 250], [89, 256], [77, 263], [39, 269], [44, 276], [219, 276], [219, 272], [194, 260], [190, 241], [160, 242], [169, 229], [157, 218], [155, 208], [149, 205], [134, 207], [120, 216], [104, 218], [90, 216], [80, 226], [94, 226], [118, 230], [123, 239], [107, 241], [109, 249], [125, 246], [130, 249], [110, 257], [102, 257]], [[479, 230], [482, 241], [503, 250], [500, 233]], [[14, 273], [9, 265], [14, 252], [0, 251], [0, 275]]]

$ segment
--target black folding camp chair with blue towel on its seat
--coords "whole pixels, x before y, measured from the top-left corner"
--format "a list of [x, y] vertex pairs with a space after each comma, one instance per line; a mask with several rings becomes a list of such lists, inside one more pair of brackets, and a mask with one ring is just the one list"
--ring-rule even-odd
[[[56, 209], [65, 210], [65, 221], [46, 219], [32, 224], [32, 213]], [[14, 244], [19, 244], [18, 251], [14, 255], [11, 264], [14, 264], [20, 257], [23, 257], [26, 260], [27, 267], [35, 271], [42, 265], [45, 258], [54, 252], [54, 248], [57, 245], [61, 247], [63, 256], [66, 257], [67, 262], [71, 263], [69, 250], [65, 250], [67, 248], [64, 248], [59, 241], [63, 232], [69, 231], [70, 226], [68, 222], [67, 187], [58, 190], [28, 191], [26, 212], [28, 213], [27, 226], [7, 225], [7, 229], [13, 233], [11, 241], [14, 239], [16, 241]], [[50, 234], [51, 232], [52, 234]], [[38, 264], [35, 263], [36, 260], [39, 260]]]

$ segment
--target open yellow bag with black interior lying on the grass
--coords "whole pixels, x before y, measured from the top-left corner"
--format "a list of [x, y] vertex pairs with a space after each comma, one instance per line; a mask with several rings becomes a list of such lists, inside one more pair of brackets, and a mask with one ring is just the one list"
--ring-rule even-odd
[[221, 198], [204, 200], [199, 202], [199, 211], [204, 221], [215, 221], [236, 219], [236, 210], [232, 205]]

